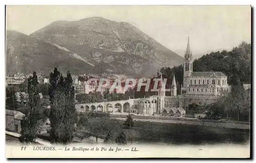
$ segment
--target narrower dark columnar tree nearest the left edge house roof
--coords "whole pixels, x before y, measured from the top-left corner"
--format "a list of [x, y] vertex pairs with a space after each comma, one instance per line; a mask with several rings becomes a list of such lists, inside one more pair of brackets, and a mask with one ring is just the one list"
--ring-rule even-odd
[[38, 109], [39, 102], [38, 81], [36, 73], [33, 72], [33, 77], [28, 79], [28, 102], [24, 112], [25, 117], [21, 123], [21, 142], [32, 143], [36, 138], [37, 129], [42, 119]]

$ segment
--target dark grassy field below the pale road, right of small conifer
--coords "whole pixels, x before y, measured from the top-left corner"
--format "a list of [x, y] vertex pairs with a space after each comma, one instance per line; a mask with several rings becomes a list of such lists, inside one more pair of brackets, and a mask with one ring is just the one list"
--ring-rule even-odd
[[138, 143], [216, 144], [246, 143], [249, 130], [136, 121], [133, 132]]

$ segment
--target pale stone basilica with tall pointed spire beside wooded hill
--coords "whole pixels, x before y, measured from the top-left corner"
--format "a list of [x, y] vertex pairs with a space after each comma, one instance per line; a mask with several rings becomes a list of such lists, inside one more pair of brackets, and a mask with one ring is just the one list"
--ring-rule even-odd
[[184, 55], [184, 77], [180, 105], [214, 103], [228, 91], [227, 76], [222, 72], [193, 72], [193, 60], [188, 37]]

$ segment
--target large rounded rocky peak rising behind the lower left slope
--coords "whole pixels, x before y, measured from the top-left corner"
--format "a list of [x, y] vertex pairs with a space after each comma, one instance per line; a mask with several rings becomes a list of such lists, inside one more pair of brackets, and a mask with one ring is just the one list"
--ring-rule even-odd
[[54, 21], [29, 36], [76, 53], [100, 73], [152, 76], [160, 67], [179, 65], [183, 59], [127, 22], [102, 17]]

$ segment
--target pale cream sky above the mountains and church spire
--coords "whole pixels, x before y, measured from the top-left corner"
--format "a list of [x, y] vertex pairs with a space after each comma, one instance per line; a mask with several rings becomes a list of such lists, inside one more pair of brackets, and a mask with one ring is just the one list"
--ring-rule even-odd
[[7, 6], [6, 29], [29, 35], [93, 16], [129, 22], [182, 57], [188, 36], [194, 57], [251, 41], [250, 6]]

